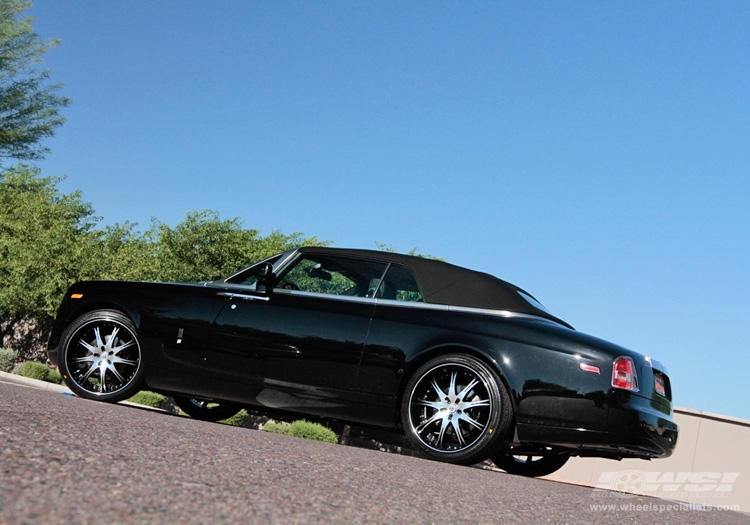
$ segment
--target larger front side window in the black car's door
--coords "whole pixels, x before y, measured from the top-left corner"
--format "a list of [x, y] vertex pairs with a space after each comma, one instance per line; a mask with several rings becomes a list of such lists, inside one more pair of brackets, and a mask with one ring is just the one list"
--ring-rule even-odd
[[372, 297], [386, 264], [353, 257], [303, 255], [292, 263], [277, 288], [329, 295]]

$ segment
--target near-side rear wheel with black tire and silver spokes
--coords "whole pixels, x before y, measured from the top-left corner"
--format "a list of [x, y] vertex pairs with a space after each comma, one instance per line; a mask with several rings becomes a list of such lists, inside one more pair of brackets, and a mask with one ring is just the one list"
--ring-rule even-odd
[[430, 459], [472, 465], [497, 450], [512, 421], [497, 374], [464, 354], [436, 357], [409, 379], [401, 422], [409, 441]]

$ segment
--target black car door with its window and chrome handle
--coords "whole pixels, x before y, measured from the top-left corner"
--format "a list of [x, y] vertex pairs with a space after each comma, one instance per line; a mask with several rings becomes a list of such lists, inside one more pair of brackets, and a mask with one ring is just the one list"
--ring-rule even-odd
[[211, 359], [232, 381], [310, 399], [352, 390], [375, 307], [370, 286], [385, 267], [299, 254], [278, 270], [273, 288], [228, 292], [210, 337]]

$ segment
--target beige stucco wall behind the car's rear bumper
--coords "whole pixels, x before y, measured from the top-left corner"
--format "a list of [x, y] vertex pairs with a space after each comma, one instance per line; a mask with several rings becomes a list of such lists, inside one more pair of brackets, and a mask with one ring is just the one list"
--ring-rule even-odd
[[750, 512], [750, 421], [682, 408], [674, 417], [680, 435], [667, 459], [571, 458], [548, 478], [595, 487], [592, 499], [615, 489]]

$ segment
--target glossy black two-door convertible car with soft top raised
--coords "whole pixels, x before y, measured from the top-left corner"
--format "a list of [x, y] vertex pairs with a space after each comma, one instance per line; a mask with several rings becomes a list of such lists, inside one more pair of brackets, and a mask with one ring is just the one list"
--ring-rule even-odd
[[398, 429], [429, 458], [528, 476], [677, 442], [657, 361], [496, 277], [394, 253], [309, 247], [221, 281], [79, 282], [49, 358], [89, 399], [148, 388], [199, 419], [247, 406]]

